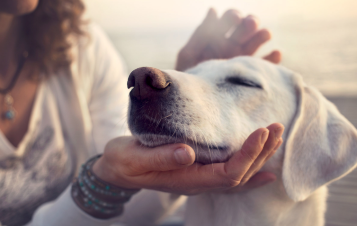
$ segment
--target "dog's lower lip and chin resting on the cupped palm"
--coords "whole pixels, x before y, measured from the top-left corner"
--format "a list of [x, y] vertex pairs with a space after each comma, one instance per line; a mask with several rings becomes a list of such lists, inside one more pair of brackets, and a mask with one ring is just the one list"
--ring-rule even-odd
[[161, 145], [182, 143], [192, 147], [196, 153], [196, 162], [212, 164], [227, 161], [233, 154], [229, 146], [210, 145], [194, 142], [189, 138], [170, 137], [156, 134], [134, 134], [134, 136], [145, 146], [154, 148]]

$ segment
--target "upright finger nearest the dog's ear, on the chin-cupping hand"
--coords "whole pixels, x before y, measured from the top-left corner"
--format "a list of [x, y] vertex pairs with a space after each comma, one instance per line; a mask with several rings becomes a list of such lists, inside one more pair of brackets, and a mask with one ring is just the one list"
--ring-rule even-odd
[[[281, 137], [284, 132], [284, 126], [280, 123], [274, 123], [267, 127], [269, 130], [269, 137], [267, 138], [262, 151], [259, 156], [255, 159], [254, 164], [251, 165], [249, 170], [246, 172], [241, 182], [245, 183], [249, 180], [251, 175], [260, 170], [263, 164], [267, 161], [267, 157], [270, 156], [273, 152], [276, 151], [276, 147], [281, 141]], [[270, 156], [271, 157], [271, 156]]]

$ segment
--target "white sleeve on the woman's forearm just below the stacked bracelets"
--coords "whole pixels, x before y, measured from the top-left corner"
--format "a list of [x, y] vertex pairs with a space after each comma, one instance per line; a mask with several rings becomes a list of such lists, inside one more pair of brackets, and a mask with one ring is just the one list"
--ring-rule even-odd
[[26, 226], [108, 226], [114, 223], [131, 226], [150, 225], [185, 201], [184, 198], [169, 193], [144, 189], [125, 204], [121, 216], [98, 219], [80, 209], [74, 203], [70, 191], [71, 185], [58, 199], [42, 205]]

